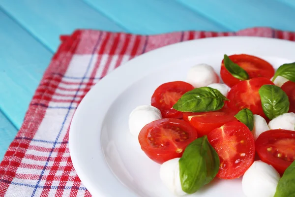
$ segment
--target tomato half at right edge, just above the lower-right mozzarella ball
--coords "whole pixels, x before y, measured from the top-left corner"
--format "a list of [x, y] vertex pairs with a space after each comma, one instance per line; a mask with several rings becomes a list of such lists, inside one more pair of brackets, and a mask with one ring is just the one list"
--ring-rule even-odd
[[255, 148], [263, 162], [283, 174], [295, 160], [295, 131], [265, 131], [255, 141]]

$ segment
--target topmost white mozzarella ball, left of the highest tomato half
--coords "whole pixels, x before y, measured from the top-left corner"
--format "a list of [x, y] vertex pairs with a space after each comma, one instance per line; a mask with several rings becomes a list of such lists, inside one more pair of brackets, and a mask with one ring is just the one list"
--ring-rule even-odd
[[219, 76], [212, 66], [200, 64], [189, 69], [187, 82], [192, 84], [195, 88], [200, 88], [212, 83], [219, 83]]

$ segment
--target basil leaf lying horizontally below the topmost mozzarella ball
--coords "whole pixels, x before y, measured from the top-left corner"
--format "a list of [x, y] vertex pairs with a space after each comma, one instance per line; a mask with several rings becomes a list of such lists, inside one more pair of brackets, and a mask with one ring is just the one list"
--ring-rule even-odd
[[173, 108], [182, 112], [216, 111], [228, 100], [218, 90], [210, 87], [195, 88], [178, 99]]

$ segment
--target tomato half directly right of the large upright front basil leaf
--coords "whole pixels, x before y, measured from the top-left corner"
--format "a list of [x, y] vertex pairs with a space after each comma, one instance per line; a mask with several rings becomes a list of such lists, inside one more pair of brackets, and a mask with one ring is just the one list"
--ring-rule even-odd
[[254, 162], [254, 138], [243, 123], [227, 123], [211, 131], [208, 140], [220, 159], [219, 172], [216, 175], [219, 178], [238, 178]]

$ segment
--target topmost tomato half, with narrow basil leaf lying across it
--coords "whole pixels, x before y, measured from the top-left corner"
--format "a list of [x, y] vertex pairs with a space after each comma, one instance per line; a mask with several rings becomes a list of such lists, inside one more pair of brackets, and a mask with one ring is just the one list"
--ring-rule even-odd
[[[274, 68], [265, 60], [246, 54], [240, 55], [231, 55], [229, 58], [236, 63], [238, 66], [241, 66], [249, 75], [249, 78], [256, 77], [265, 77], [270, 79], [274, 75]], [[224, 66], [222, 60], [220, 75], [223, 82], [229, 87], [233, 87], [240, 80], [235, 78]]]

